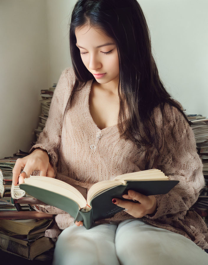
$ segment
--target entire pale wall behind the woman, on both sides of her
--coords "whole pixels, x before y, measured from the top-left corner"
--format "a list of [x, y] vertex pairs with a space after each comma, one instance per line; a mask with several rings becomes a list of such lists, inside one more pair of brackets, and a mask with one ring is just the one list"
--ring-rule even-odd
[[[68, 21], [76, 0], [0, 0], [0, 157], [30, 150], [40, 89], [71, 66]], [[207, 0], [140, 0], [168, 92], [208, 117]], [[3, 115], [2, 115], [3, 114]]]

